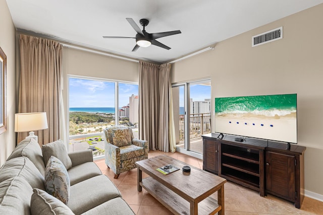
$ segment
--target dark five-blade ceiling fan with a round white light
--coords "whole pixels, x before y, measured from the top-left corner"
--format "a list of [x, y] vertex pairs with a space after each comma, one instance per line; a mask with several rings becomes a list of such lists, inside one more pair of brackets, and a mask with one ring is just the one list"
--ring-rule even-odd
[[145, 31], [145, 27], [148, 25], [149, 21], [147, 19], [141, 19], [140, 25], [143, 26], [143, 30], [141, 31], [139, 26], [135, 23], [135, 21], [132, 18], [126, 18], [126, 20], [129, 22], [129, 24], [132, 26], [132, 28], [137, 32], [136, 37], [111, 37], [111, 36], [103, 36], [103, 38], [133, 38], [136, 39], [136, 45], [132, 49], [132, 51], [137, 51], [139, 47], [148, 47], [151, 44], [159, 46], [161, 48], [165, 48], [167, 50], [171, 49], [167, 45], [164, 45], [163, 43], [158, 42], [156, 39], [160, 37], [166, 37], [171, 36], [174, 34], [180, 34], [182, 33], [180, 30], [177, 31], [167, 31], [167, 32], [159, 32], [159, 33], [148, 33]]

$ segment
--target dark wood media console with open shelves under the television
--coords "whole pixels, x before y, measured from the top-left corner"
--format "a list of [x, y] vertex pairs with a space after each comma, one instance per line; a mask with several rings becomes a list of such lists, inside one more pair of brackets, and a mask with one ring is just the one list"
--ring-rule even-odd
[[300, 208], [304, 199], [305, 147], [246, 138], [235, 141], [233, 135], [218, 139], [218, 133], [202, 135], [203, 170], [227, 180], [295, 203]]

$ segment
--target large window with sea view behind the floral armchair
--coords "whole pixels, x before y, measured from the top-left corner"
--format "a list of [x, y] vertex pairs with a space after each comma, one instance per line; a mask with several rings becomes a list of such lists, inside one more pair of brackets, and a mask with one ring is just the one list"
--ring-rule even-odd
[[94, 157], [103, 156], [108, 126], [129, 126], [138, 135], [138, 100], [138, 84], [70, 77], [69, 151], [91, 149]]

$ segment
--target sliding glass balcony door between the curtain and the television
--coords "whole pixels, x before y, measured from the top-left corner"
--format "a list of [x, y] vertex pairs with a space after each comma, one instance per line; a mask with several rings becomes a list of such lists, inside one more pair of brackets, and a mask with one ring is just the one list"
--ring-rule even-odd
[[173, 85], [172, 93], [177, 151], [202, 158], [201, 135], [211, 132], [210, 80]]

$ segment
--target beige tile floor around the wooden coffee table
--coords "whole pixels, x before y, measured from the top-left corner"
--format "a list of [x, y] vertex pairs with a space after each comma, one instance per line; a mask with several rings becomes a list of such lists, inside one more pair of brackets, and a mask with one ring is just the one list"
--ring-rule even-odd
[[[203, 168], [202, 160], [181, 153], [151, 151], [148, 157], [161, 154], [166, 154], [194, 167]], [[97, 160], [95, 163], [102, 173], [114, 182], [125, 201], [137, 215], [173, 214], [144, 189], [142, 192], [137, 191], [137, 169], [121, 173], [118, 179], [114, 179], [114, 173], [106, 167], [104, 159]], [[147, 177], [147, 175], [143, 173], [143, 177]], [[217, 198], [217, 193], [212, 194], [212, 197]], [[227, 215], [323, 214], [323, 202], [305, 197], [301, 209], [297, 209], [292, 202], [270, 194], [260, 197], [258, 192], [228, 181], [225, 184], [225, 209]]]

